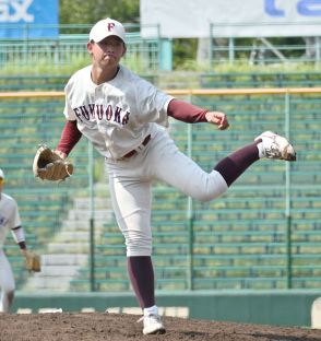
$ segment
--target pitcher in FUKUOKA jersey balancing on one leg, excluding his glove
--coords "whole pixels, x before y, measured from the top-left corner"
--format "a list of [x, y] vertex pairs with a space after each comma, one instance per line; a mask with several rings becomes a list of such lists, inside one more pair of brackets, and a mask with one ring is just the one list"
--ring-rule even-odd
[[226, 115], [178, 101], [139, 78], [119, 63], [126, 49], [124, 28], [118, 21], [106, 19], [92, 27], [87, 43], [92, 64], [75, 72], [66, 85], [67, 122], [56, 153], [66, 158], [84, 134], [106, 158], [112, 207], [127, 245], [128, 273], [143, 309], [143, 333], [164, 333], [151, 258], [153, 180], [209, 201], [260, 158], [295, 161], [296, 155], [285, 138], [265, 131], [212, 172], [204, 172], [177, 149], [164, 127], [173, 117], [225, 130]]

